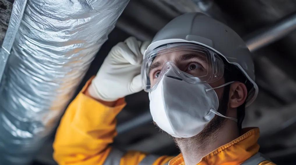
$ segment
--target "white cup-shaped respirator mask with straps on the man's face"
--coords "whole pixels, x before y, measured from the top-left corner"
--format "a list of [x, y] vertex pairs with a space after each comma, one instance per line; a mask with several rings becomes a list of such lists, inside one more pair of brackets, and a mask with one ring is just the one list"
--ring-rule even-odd
[[[228, 82], [216, 88], [233, 83]], [[150, 112], [159, 128], [176, 138], [200, 133], [215, 115], [237, 122], [236, 118], [217, 112], [218, 96], [209, 84], [184, 81], [169, 68], [156, 88], [149, 92]]]

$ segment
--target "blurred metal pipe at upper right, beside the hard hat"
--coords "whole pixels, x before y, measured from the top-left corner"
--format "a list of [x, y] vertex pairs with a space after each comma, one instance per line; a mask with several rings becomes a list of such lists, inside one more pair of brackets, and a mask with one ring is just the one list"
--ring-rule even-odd
[[296, 13], [280, 20], [270, 27], [255, 31], [247, 35], [247, 37], [245, 37], [244, 39], [249, 50], [251, 52], [254, 52], [268, 44], [271, 44], [285, 37], [287, 34], [293, 32], [295, 29]]

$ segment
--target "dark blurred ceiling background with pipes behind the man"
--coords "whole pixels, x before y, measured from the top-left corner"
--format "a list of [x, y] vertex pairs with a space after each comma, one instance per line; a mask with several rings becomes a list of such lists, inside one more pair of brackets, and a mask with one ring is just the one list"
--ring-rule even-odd
[[[1, 40], [9, 22], [11, 2], [13, 0], [0, 0]], [[76, 94], [96, 74], [112, 46], [129, 36], [151, 40], [171, 19], [192, 11], [225, 22], [250, 46], [260, 91], [255, 102], [246, 109], [243, 126], [260, 128], [260, 152], [272, 161], [296, 164], [295, 0], [131, 0], [91, 63]], [[126, 101], [127, 106], [117, 117], [118, 136], [113, 146], [160, 155], [178, 154], [172, 139], [153, 125], [148, 94], [142, 91], [129, 95]], [[56, 164], [52, 159], [53, 141], [54, 132], [42, 144], [34, 165]]]

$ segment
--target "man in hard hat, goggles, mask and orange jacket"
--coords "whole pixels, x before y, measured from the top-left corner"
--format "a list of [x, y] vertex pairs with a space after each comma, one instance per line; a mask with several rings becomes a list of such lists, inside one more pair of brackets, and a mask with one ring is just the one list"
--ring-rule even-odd
[[[259, 129], [241, 127], [244, 107], [258, 93], [254, 80], [251, 53], [232, 29], [200, 13], [181, 15], [151, 44], [130, 37], [112, 48], [63, 116], [54, 159], [59, 164], [273, 164], [258, 153]], [[108, 146], [124, 97], [142, 89], [149, 92], [153, 121], [181, 150], [178, 156]]]

